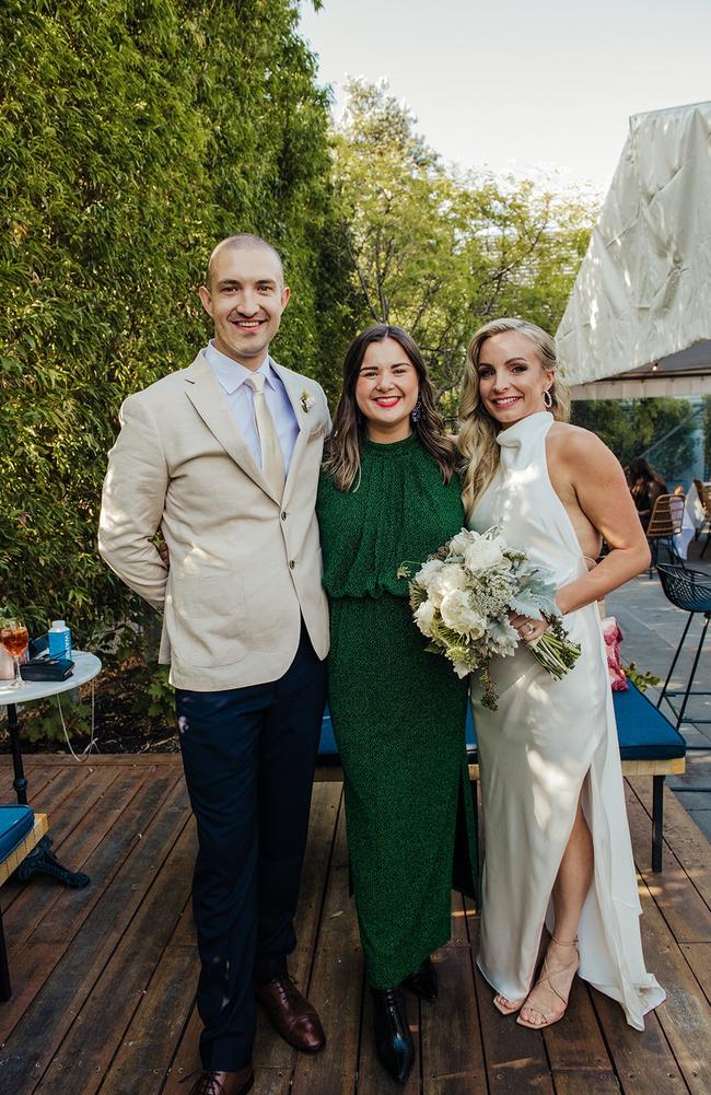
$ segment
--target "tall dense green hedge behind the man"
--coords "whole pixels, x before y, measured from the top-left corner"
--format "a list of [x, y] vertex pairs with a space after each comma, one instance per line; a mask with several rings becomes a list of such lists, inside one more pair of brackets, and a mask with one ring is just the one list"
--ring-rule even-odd
[[[352, 330], [328, 97], [288, 0], [5, 0], [0, 11], [0, 607], [101, 642], [142, 607], [95, 551], [126, 394], [208, 336], [213, 244], [294, 290], [276, 355], [334, 390]], [[130, 630], [130, 629], [129, 629]]]

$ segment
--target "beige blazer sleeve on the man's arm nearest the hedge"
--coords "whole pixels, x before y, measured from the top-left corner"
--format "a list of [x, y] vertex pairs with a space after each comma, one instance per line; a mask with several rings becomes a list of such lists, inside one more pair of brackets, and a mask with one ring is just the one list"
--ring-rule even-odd
[[168, 466], [140, 393], [126, 400], [119, 417], [122, 429], [104, 480], [99, 551], [130, 589], [161, 609], [168, 572], [151, 541], [163, 516]]

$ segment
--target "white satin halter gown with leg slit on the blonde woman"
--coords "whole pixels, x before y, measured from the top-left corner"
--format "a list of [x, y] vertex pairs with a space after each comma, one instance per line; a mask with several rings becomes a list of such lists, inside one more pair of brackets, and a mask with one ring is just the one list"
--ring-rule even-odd
[[[551, 484], [547, 412], [502, 430], [500, 466], [470, 527], [501, 526], [511, 546], [552, 568], [559, 586], [585, 574], [571, 520]], [[564, 618], [582, 654], [561, 681], [520, 645], [491, 667], [498, 710], [479, 702], [472, 678], [484, 812], [485, 858], [479, 967], [497, 992], [520, 1000], [531, 987], [543, 923], [554, 929], [551, 891], [578, 798], [595, 849], [583, 908], [580, 976], [617, 1000], [628, 1023], [665, 993], [646, 972], [620, 754], [597, 607]]]

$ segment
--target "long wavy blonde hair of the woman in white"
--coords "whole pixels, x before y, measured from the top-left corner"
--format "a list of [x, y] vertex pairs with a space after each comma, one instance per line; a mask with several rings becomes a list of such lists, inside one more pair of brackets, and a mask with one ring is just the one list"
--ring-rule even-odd
[[[498, 465], [496, 434], [502, 428], [501, 423], [492, 418], [479, 397], [479, 358], [488, 338], [507, 331], [517, 331], [530, 338], [547, 372], [554, 370], [557, 366], [553, 339], [547, 331], [535, 323], [529, 323], [528, 320], [508, 318], [491, 320], [479, 328], [469, 343], [459, 404], [459, 451], [462, 457], [462, 498], [467, 517], [471, 517], [477, 502], [491, 483]], [[550, 411], [558, 422], [567, 422], [570, 394], [560, 377], [554, 378], [549, 393], [552, 402], [546, 410]]]

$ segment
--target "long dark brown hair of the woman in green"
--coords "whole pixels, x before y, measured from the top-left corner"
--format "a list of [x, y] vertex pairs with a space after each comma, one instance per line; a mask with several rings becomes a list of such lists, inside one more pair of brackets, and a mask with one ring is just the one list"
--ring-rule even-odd
[[355, 390], [368, 346], [385, 338], [399, 343], [415, 368], [420, 382], [421, 415], [413, 423], [413, 430], [423, 448], [437, 461], [445, 483], [449, 483], [457, 464], [455, 442], [445, 434], [445, 424], [435, 406], [435, 393], [417, 344], [402, 327], [375, 323], [353, 339], [343, 362], [343, 390], [323, 462], [324, 470], [333, 476], [339, 491], [349, 491], [360, 471], [360, 447], [366, 436], [366, 418], [358, 408]]

